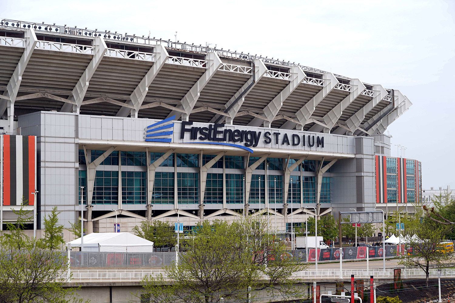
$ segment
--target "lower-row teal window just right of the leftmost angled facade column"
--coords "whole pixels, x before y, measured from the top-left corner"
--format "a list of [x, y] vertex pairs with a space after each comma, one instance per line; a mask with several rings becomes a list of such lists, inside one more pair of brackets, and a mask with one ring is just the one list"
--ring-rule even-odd
[[97, 170], [92, 204], [118, 203], [118, 171]]

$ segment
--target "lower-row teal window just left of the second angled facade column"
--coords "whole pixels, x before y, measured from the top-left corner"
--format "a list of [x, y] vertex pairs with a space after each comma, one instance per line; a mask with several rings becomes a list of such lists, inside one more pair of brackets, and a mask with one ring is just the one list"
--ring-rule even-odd
[[147, 204], [146, 172], [121, 172], [121, 200], [126, 204]]

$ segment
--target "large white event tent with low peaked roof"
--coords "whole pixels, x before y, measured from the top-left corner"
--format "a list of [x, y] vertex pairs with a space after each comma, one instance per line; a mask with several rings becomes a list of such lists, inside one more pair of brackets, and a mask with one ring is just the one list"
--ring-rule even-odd
[[[81, 238], [69, 242], [69, 245], [81, 247]], [[151, 253], [153, 242], [132, 233], [89, 233], [84, 236], [82, 251]]]

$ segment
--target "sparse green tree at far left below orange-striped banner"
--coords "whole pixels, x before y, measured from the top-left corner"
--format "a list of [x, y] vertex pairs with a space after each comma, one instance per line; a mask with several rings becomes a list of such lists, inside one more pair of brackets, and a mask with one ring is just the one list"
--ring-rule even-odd
[[24, 234], [25, 224], [33, 220], [33, 214], [24, 209], [23, 205], [26, 203], [26, 200], [23, 200], [19, 210], [11, 209], [17, 220], [15, 223], [6, 223], [6, 232], [2, 232], [0, 236], [2, 248], [20, 250], [33, 247], [33, 240]]

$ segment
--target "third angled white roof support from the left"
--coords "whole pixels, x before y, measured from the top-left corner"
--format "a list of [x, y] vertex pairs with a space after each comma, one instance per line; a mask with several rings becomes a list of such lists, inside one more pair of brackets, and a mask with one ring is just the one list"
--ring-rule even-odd
[[148, 87], [152, 84], [152, 81], [166, 63], [167, 58], [169, 58], [169, 54], [164, 46], [157, 44], [153, 46], [153, 57], [154, 61], [152, 67], [147, 72], [145, 77], [142, 78], [141, 82], [139, 82], [136, 86], [130, 95], [130, 99], [125, 102], [126, 104], [133, 105], [134, 109], [122, 107], [118, 110], [116, 114], [117, 117], [127, 117], [128, 114], [131, 113], [131, 117], [137, 118], [137, 113], [141, 108], [142, 102], [144, 102], [144, 99], [147, 96]]

